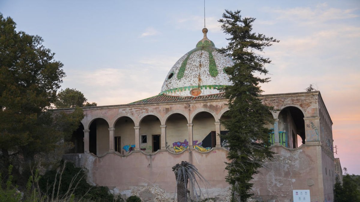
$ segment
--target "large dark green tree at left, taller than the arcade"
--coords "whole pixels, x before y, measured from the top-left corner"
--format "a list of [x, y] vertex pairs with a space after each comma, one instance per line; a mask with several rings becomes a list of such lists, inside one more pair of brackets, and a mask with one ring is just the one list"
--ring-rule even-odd
[[15, 28], [13, 19], [0, 13], [0, 169], [13, 164], [17, 174], [19, 165], [29, 165], [36, 153], [62, 147], [61, 140], [83, 115], [54, 117], [49, 111], [65, 76], [63, 64], [40, 36]]

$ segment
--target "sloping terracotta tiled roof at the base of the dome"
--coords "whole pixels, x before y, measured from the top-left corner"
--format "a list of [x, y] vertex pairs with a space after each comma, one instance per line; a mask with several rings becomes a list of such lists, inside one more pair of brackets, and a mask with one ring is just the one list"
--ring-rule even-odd
[[184, 100], [207, 100], [207, 99], [216, 99], [216, 98], [225, 98], [225, 93], [217, 93], [212, 95], [203, 95], [203, 96], [172, 96], [166, 94], [160, 94], [153, 97], [146, 98], [144, 100], [139, 100], [132, 102], [130, 104], [142, 104], [142, 103], [159, 103], [159, 102], [172, 102], [172, 101], [184, 101]]

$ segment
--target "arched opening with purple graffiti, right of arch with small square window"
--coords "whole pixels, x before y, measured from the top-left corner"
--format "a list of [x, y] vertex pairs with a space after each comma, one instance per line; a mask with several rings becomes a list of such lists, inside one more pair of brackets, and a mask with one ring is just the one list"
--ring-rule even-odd
[[167, 148], [173, 152], [184, 151], [189, 146], [188, 119], [184, 114], [172, 113], [166, 119]]

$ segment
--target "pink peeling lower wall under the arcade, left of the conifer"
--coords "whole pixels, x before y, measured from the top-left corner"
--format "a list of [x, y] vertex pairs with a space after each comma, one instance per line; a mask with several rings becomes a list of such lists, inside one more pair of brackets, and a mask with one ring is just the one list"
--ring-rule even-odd
[[[181, 161], [188, 161], [208, 180], [209, 189], [224, 190], [217, 193], [221, 196], [226, 194], [229, 188], [229, 184], [224, 180], [226, 154], [227, 151], [223, 148], [213, 148], [207, 153], [186, 150], [174, 154], [161, 150], [154, 155], [146, 155], [141, 151], [132, 151], [127, 156], [108, 153], [94, 158], [91, 154], [68, 154], [65, 158], [75, 161], [77, 166], [87, 167], [93, 184], [116, 187], [118, 190], [157, 185], [169, 193], [169, 196], [174, 196], [176, 187], [175, 174], [171, 167]], [[204, 188], [204, 185], [201, 187]]]

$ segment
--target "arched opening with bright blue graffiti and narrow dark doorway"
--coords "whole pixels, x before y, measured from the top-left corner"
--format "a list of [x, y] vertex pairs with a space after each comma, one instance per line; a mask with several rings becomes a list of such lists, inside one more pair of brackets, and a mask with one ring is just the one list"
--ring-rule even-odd
[[125, 155], [135, 149], [135, 122], [130, 116], [120, 116], [114, 122], [114, 150]]

